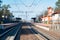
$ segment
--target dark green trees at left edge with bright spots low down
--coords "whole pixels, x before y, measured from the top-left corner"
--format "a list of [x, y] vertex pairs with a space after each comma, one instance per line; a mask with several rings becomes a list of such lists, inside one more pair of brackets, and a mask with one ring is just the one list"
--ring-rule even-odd
[[2, 10], [0, 10], [0, 22], [1, 21], [7, 22], [10, 19], [12, 19], [13, 14], [10, 12], [10, 10], [8, 8], [10, 8], [10, 5], [3, 5], [2, 6]]

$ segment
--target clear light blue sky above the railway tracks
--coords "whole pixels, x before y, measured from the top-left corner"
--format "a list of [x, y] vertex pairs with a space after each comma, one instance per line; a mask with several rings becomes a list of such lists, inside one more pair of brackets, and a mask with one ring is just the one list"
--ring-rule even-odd
[[9, 10], [15, 17], [30, 20], [32, 17], [41, 15], [47, 7], [55, 8], [57, 0], [2, 0], [2, 5], [10, 5]]

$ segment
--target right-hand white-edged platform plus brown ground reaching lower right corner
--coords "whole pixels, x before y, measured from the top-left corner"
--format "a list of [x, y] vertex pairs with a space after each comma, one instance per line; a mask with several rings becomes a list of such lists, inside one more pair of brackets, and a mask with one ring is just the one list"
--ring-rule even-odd
[[55, 38], [56, 40], [60, 40], [60, 32], [51, 31], [49, 27], [51, 24], [43, 24], [43, 23], [34, 23], [35, 27], [38, 31], [41, 31], [44, 35], [48, 35], [47, 37]]

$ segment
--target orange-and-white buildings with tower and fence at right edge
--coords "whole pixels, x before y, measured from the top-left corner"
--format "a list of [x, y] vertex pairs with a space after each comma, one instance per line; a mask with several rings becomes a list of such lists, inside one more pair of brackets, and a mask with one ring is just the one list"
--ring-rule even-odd
[[50, 30], [60, 32], [60, 11], [54, 12], [52, 7], [48, 7], [48, 15], [42, 17], [42, 22], [51, 24]]

